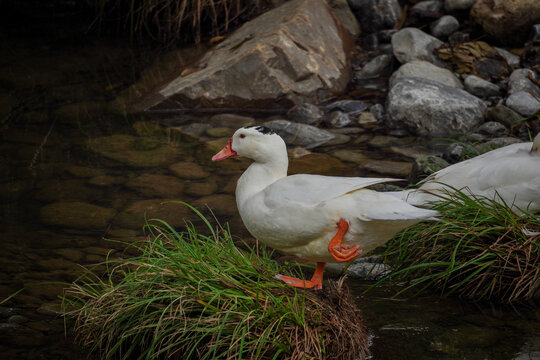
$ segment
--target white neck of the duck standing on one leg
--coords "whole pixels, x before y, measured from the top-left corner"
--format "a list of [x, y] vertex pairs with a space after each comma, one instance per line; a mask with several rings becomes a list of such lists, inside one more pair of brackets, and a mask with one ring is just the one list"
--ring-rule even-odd
[[240, 207], [253, 195], [264, 190], [274, 181], [287, 176], [289, 160], [284, 157], [270, 159], [266, 162], [254, 162], [238, 179], [236, 185], [236, 203]]

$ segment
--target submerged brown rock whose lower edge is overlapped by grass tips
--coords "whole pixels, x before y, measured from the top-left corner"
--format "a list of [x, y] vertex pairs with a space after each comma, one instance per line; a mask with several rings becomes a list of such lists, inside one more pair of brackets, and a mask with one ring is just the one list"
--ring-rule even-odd
[[160, 219], [172, 227], [183, 227], [186, 221], [197, 216], [187, 206], [164, 199], [136, 201], [122, 210], [114, 219], [114, 224], [125, 229], [140, 229], [145, 219]]

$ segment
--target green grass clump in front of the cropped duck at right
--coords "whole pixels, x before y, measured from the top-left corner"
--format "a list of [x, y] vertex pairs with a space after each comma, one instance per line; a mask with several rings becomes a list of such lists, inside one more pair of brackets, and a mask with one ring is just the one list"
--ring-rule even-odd
[[473, 300], [519, 302], [540, 296], [540, 217], [456, 192], [434, 207], [441, 220], [397, 234], [381, 259], [393, 269], [381, 282], [401, 292], [433, 290]]

